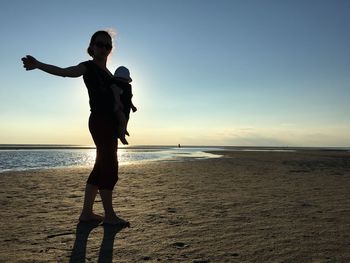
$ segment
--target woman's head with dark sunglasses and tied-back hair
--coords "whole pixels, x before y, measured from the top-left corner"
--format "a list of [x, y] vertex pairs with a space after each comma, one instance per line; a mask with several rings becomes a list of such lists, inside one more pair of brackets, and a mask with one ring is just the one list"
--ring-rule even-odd
[[107, 31], [95, 32], [87, 49], [91, 57], [108, 56], [112, 50], [112, 36]]

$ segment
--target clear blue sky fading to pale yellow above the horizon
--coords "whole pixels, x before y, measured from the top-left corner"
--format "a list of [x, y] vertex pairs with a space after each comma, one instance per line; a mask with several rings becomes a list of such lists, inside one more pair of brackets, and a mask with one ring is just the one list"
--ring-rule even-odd
[[92, 145], [82, 78], [25, 71], [91, 59], [116, 32], [130, 145], [350, 146], [350, 1], [3, 1], [0, 144]]

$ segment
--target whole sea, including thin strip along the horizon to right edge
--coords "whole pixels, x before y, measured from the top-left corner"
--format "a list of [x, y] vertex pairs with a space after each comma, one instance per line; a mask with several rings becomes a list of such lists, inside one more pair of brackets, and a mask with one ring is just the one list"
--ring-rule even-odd
[[[133, 146], [120, 147], [118, 160], [120, 165], [147, 161], [180, 161], [184, 159], [218, 158], [215, 151], [305, 151], [305, 150], [341, 150], [349, 147], [301, 148], [301, 147], [237, 147], [237, 146]], [[214, 153], [208, 153], [213, 151]], [[4, 145], [0, 144], [0, 173], [6, 171], [24, 171], [30, 169], [49, 169], [60, 167], [92, 167], [96, 150], [88, 146], [71, 145]]]

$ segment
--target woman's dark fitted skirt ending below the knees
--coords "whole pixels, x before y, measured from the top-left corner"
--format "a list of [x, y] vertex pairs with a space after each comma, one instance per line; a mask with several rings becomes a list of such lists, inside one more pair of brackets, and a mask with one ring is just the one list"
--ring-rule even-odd
[[111, 116], [91, 113], [89, 130], [96, 145], [96, 161], [87, 180], [101, 190], [113, 190], [118, 181], [117, 123]]

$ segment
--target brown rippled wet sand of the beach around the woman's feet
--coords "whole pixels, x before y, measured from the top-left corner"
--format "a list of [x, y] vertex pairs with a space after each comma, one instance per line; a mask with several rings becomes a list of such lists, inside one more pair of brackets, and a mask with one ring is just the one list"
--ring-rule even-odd
[[349, 152], [222, 154], [121, 166], [124, 229], [78, 224], [89, 168], [2, 173], [0, 262], [350, 262]]

